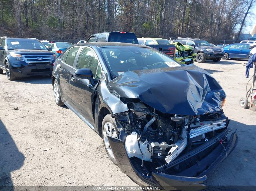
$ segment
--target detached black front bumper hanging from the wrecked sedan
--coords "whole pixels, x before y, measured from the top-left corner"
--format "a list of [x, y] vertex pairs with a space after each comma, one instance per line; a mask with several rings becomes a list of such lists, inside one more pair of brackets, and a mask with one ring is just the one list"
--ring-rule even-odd
[[[225, 134], [222, 136], [226, 136], [228, 133], [227, 130]], [[218, 137], [219, 138], [219, 137]], [[138, 166], [134, 166], [128, 158], [128, 155], [125, 150], [125, 146], [122, 140], [117, 138], [108, 137], [111, 149], [115, 156], [115, 160], [118, 164], [118, 167], [121, 169], [123, 173], [125, 173], [131, 180], [137, 183], [140, 186], [155, 186], [162, 190], [184, 190], [184, 191], [192, 191], [192, 190], [200, 190], [204, 189], [206, 186], [203, 182], [206, 180], [209, 172], [211, 172], [214, 168], [216, 168], [224, 159], [233, 151], [235, 148], [238, 137], [236, 133], [233, 133], [229, 139], [229, 143], [223, 147], [220, 143], [215, 147], [211, 153], [203, 158], [198, 164], [184, 170], [179, 173], [179, 175], [169, 175], [164, 173], [165, 169], [170, 166], [170, 164], [164, 165], [165, 167], [158, 167], [155, 169], [155, 172], [151, 172], [148, 174], [141, 173], [138, 170]], [[211, 140], [212, 144], [217, 144], [219, 141]], [[211, 143], [209, 142], [208, 145]], [[225, 150], [226, 149], [226, 150]], [[196, 149], [194, 149], [196, 150]], [[201, 152], [201, 150], [197, 149], [197, 152]], [[193, 153], [191, 153], [193, 155]], [[182, 155], [181, 157], [175, 159], [173, 163], [178, 163], [179, 161], [184, 161], [187, 158], [191, 157], [190, 152]], [[179, 164], [179, 163], [178, 163]], [[158, 170], [157, 170], [158, 169]], [[196, 171], [195, 171], [196, 170]], [[186, 172], [185, 172], [186, 171]], [[189, 177], [187, 174], [195, 173], [196, 177]]]

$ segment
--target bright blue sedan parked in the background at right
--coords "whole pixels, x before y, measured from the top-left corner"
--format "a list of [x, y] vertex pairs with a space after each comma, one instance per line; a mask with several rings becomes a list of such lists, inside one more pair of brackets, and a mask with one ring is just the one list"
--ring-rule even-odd
[[223, 48], [224, 56], [222, 59], [249, 59], [249, 53], [251, 51], [249, 48], [250, 45], [247, 43], [235, 43], [225, 46]]

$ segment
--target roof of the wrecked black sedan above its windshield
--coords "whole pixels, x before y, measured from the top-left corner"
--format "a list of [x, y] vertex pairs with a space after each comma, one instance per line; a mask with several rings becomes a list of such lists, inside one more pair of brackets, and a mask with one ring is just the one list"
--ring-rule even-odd
[[117, 43], [117, 42], [94, 42], [94, 43], [80, 43], [81, 45], [90, 45], [90, 46], [97, 46], [98, 48], [107, 48], [107, 47], [141, 47], [145, 48], [145, 45], [139, 44], [131, 44], [131, 43]]

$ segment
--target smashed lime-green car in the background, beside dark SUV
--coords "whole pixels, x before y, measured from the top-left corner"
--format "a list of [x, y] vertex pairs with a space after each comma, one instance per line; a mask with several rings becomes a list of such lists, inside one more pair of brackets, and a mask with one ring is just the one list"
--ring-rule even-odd
[[183, 45], [179, 42], [172, 43], [175, 45], [176, 54], [174, 59], [181, 64], [193, 64], [196, 59], [196, 53], [193, 51], [193, 47], [189, 45]]

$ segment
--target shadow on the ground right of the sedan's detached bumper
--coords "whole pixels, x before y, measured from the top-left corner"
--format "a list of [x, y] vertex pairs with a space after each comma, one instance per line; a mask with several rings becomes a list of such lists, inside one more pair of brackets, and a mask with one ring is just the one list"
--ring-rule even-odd
[[244, 188], [254, 186], [255, 188], [256, 125], [246, 125], [231, 119], [228, 126], [231, 127], [232, 132], [237, 129], [238, 144], [228, 158], [208, 174], [204, 183], [207, 186], [243, 186]]

